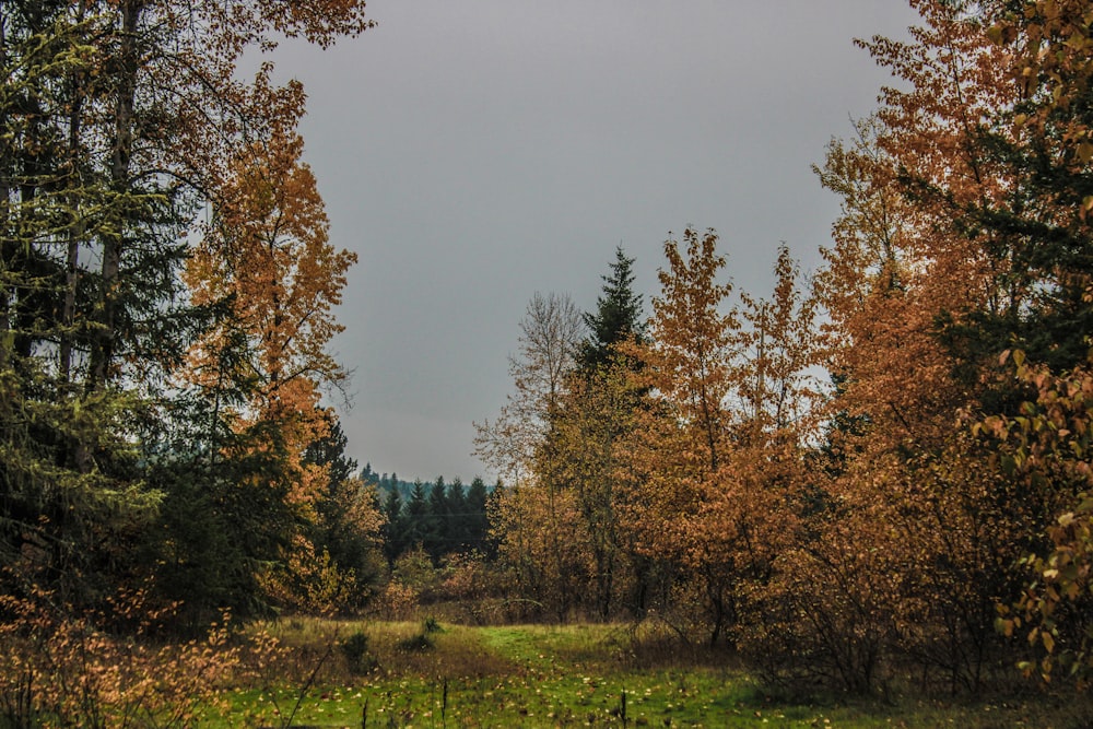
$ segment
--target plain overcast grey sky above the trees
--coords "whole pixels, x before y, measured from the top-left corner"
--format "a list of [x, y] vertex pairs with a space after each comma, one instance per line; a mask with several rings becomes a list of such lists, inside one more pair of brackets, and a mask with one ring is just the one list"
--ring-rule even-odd
[[715, 228], [767, 295], [785, 242], [812, 270], [838, 200], [811, 166], [891, 80], [856, 37], [904, 0], [373, 0], [378, 26], [283, 44], [334, 246], [357, 254], [332, 344], [361, 466], [493, 474], [472, 422], [512, 391], [536, 292], [595, 309], [622, 245], [647, 311], [669, 235]]

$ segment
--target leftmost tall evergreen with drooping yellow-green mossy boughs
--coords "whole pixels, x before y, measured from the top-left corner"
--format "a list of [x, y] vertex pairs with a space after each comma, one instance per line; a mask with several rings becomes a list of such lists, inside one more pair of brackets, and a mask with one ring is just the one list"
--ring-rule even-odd
[[73, 607], [150, 568], [163, 494], [140, 444], [162, 425], [192, 201], [132, 154], [154, 146], [125, 92], [148, 28], [122, 39], [97, 10], [0, 3], [0, 585]]

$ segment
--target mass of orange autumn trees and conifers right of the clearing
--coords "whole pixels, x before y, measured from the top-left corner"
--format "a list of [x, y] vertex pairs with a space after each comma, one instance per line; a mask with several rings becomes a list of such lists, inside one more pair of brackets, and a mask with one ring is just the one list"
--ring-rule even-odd
[[648, 320], [621, 250], [595, 310], [531, 299], [478, 439], [525, 618], [655, 620], [796, 687], [1085, 684], [1089, 5], [913, 4], [861, 44], [897, 84], [815, 168], [814, 274], [783, 247], [737, 291], [687, 228]]

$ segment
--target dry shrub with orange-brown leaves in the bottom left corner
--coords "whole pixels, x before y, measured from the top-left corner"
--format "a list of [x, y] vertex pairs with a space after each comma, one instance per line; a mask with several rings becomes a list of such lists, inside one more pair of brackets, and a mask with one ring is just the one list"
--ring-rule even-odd
[[[0, 596], [0, 718], [11, 726], [183, 727], [216, 703], [234, 673], [227, 615], [200, 639], [150, 636], [174, 608], [148, 608], [145, 590], [120, 595], [108, 612], [73, 616], [52, 596]], [[136, 624], [124, 634], [104, 625]]]

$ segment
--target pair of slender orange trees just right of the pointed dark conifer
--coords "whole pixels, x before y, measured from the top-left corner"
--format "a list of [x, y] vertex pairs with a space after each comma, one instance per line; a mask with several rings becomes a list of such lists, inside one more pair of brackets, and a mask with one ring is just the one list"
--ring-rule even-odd
[[729, 308], [717, 240], [687, 228], [685, 249], [665, 244], [649, 342], [628, 349], [648, 401], [627, 444], [623, 524], [675, 571], [677, 627], [738, 644], [797, 529], [813, 306], [783, 248], [774, 299]]

